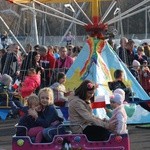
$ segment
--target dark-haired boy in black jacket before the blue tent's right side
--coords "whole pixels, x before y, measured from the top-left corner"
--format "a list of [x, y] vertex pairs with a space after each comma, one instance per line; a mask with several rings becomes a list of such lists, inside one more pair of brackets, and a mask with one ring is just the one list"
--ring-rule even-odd
[[123, 79], [124, 79], [124, 74], [123, 71], [120, 69], [117, 69], [114, 72], [114, 78], [115, 81], [113, 82], [108, 82], [109, 85], [109, 89], [114, 91], [118, 88], [124, 90], [125, 92], [125, 100], [128, 102], [130, 99], [130, 96], [132, 96], [132, 91], [130, 88], [126, 87], [126, 85], [123, 83]]

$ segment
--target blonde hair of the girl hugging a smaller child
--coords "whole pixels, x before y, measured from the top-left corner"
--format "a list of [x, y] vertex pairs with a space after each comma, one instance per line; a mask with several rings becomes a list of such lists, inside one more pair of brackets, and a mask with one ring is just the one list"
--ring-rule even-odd
[[49, 96], [50, 96], [50, 101], [49, 101], [49, 104], [54, 104], [54, 93], [53, 93], [53, 90], [49, 87], [45, 87], [45, 88], [42, 88], [40, 89], [39, 93], [38, 93], [38, 97], [40, 99], [40, 95], [41, 93], [48, 93]]

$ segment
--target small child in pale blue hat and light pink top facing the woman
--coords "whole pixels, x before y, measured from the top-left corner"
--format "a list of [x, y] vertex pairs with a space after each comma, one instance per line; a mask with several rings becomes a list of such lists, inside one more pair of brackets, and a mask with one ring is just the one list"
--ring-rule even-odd
[[110, 99], [113, 112], [109, 123], [116, 124], [116, 128], [112, 131], [116, 135], [127, 133], [127, 114], [123, 106], [123, 101], [123, 96], [118, 93], [115, 93]]

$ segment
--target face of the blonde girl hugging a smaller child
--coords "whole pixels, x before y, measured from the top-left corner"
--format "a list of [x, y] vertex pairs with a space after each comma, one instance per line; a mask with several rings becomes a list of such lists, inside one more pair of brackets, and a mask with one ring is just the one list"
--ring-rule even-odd
[[50, 93], [42, 92], [40, 94], [40, 103], [42, 106], [48, 106], [51, 102], [51, 95]]

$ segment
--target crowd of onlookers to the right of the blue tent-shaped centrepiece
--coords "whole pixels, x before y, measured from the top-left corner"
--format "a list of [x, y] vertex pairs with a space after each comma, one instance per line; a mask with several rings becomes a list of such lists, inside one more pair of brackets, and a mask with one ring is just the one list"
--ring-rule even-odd
[[150, 45], [144, 42], [137, 46], [132, 39], [122, 37], [116, 53], [147, 94], [150, 94]]

